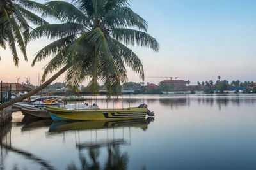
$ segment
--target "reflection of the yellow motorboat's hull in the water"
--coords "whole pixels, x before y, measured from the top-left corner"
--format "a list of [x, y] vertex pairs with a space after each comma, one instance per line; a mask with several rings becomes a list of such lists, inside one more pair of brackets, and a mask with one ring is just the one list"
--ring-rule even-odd
[[136, 120], [99, 120], [81, 122], [52, 122], [49, 133], [60, 133], [65, 131], [105, 129], [110, 127], [139, 127], [147, 130], [148, 124], [154, 121], [154, 117]]

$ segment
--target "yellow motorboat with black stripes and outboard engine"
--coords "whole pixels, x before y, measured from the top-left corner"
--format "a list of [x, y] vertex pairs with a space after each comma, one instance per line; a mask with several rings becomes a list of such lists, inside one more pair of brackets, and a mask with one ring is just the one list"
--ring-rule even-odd
[[[142, 105], [142, 106], [141, 106]], [[141, 104], [139, 107], [124, 109], [77, 109], [68, 110], [67, 108], [53, 108], [46, 106], [46, 110], [55, 121], [60, 120], [129, 120], [145, 118], [146, 113], [154, 116], [148, 110], [147, 105]]]

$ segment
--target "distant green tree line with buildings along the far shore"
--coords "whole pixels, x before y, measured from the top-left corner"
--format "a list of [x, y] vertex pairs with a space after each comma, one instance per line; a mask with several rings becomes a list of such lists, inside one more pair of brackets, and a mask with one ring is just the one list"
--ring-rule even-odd
[[[190, 81], [187, 81], [186, 89], [182, 89], [180, 87], [175, 87], [173, 84], [168, 84], [168, 83], [159, 83], [156, 87], [147, 87], [150, 83], [136, 83], [136, 82], [126, 82], [122, 84], [122, 90], [134, 90], [134, 93], [137, 94], [159, 94], [163, 91], [168, 91], [168, 90], [191, 90], [191, 93], [195, 93], [196, 91], [204, 91], [207, 94], [212, 94], [215, 92], [217, 93], [225, 93], [225, 91], [231, 90], [232, 87], [239, 87], [236, 89], [235, 92], [239, 92], [239, 89], [243, 89], [243, 92], [256, 92], [256, 85], [253, 81], [231, 81], [229, 83], [227, 80], [221, 80], [221, 77], [218, 76], [218, 80], [214, 83], [214, 81], [209, 80], [209, 81], [202, 81], [201, 83], [198, 81], [197, 85], [189, 85]], [[32, 85], [29, 82], [26, 82], [26, 84], [31, 88], [36, 88], [35, 85]], [[56, 90], [56, 89], [63, 89], [65, 86], [65, 83], [54, 83], [52, 85], [48, 85], [45, 89], [49, 90]], [[99, 86], [100, 90], [106, 90], [105, 85], [100, 85]], [[82, 86], [81, 87], [81, 92], [88, 92], [88, 87]]]

